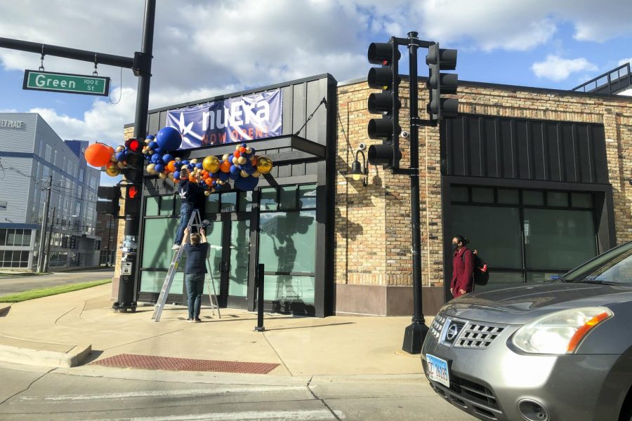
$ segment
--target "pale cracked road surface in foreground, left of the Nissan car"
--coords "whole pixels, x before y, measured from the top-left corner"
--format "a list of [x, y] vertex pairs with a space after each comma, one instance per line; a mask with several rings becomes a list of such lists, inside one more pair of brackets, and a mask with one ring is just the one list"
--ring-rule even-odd
[[0, 420], [473, 421], [421, 376], [2, 368]]

